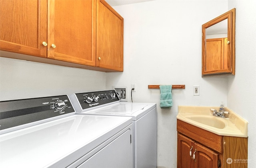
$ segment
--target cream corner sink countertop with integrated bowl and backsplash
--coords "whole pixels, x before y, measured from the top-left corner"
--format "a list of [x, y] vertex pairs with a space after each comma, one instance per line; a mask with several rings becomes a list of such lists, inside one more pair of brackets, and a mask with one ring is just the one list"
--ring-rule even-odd
[[217, 135], [248, 137], [248, 121], [228, 107], [225, 107], [225, 111], [230, 114], [225, 114], [226, 118], [213, 116], [211, 108], [218, 109], [212, 106], [178, 106], [177, 119]]

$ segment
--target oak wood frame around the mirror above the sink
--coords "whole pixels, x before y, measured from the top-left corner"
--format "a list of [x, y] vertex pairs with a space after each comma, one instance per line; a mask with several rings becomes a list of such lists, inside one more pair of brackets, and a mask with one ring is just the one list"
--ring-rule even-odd
[[[204, 75], [220, 75], [220, 74], [235, 74], [235, 18], [236, 8], [218, 16], [217, 18], [208, 21], [202, 25], [202, 77]], [[206, 28], [228, 19], [228, 45], [227, 45], [227, 61], [223, 69], [206, 70]], [[224, 59], [224, 58], [223, 58]], [[224, 61], [223, 61], [224, 62]], [[208, 64], [209, 66], [210, 64]]]

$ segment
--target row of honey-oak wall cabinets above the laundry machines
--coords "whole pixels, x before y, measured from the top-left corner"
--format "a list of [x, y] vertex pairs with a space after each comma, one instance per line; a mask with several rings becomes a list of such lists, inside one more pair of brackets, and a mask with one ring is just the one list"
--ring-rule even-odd
[[105, 0], [1, 0], [0, 10], [1, 57], [123, 71], [123, 18]]

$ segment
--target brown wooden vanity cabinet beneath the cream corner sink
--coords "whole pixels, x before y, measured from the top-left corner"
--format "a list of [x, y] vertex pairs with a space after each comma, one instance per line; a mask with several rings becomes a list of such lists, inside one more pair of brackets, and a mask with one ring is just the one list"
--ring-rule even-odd
[[177, 168], [247, 168], [248, 138], [217, 135], [179, 119], [177, 131]]

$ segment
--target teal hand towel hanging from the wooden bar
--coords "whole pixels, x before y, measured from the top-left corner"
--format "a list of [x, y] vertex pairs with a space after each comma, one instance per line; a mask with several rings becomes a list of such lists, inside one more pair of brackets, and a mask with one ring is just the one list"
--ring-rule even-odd
[[160, 107], [172, 107], [172, 85], [160, 85]]

